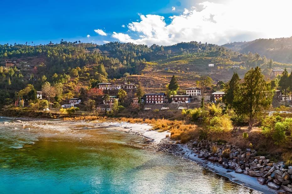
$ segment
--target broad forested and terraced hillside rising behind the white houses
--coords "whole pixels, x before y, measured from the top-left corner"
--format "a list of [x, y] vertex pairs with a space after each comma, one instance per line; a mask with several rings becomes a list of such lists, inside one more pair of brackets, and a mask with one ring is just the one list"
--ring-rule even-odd
[[[6, 68], [6, 62], [14, 63]], [[79, 96], [101, 82], [121, 84], [127, 79], [142, 84], [146, 91], [165, 91], [175, 74], [180, 88], [194, 86], [200, 75], [214, 83], [228, 81], [236, 71], [240, 77], [251, 67], [287, 68], [260, 54], [240, 54], [215, 44], [192, 41], [171, 46], [111, 42], [104, 45], [61, 40], [59, 44], [31, 46], [0, 45], [0, 104], [32, 84], [36, 90], [48, 82], [62, 84], [63, 96]], [[214, 64], [209, 67], [208, 64]], [[236, 65], [236, 67], [234, 66]]]

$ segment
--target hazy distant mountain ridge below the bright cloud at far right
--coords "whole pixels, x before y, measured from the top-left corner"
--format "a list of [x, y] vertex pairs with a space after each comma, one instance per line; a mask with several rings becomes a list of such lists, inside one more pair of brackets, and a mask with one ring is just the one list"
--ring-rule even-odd
[[226, 43], [222, 46], [240, 53], [258, 53], [281, 63], [292, 63], [292, 36]]

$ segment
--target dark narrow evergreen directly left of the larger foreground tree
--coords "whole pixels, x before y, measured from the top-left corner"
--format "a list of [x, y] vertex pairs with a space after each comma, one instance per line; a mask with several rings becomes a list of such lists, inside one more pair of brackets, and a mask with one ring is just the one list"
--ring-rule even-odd
[[235, 93], [239, 90], [239, 81], [240, 78], [237, 73], [233, 73], [233, 76], [231, 80], [228, 82], [228, 84], [225, 85], [225, 95], [223, 96], [222, 100], [224, 103], [229, 106], [233, 107], [233, 100]]

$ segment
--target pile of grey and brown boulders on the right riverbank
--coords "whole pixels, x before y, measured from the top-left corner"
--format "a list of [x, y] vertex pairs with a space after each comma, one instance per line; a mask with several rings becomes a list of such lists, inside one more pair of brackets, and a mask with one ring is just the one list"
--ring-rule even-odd
[[257, 151], [241, 149], [238, 146], [219, 144], [209, 140], [194, 140], [188, 147], [198, 154], [198, 158], [218, 162], [226, 169], [257, 177], [261, 184], [292, 193], [292, 166], [285, 168], [284, 162], [274, 163], [265, 156], [257, 156]]

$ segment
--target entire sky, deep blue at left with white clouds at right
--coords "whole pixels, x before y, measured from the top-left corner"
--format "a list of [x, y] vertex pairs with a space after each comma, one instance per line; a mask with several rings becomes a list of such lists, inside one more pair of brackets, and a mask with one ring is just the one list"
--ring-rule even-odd
[[291, 6], [285, 0], [10, 0], [1, 3], [0, 43], [223, 44], [290, 37]]

